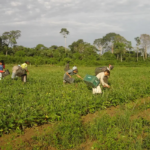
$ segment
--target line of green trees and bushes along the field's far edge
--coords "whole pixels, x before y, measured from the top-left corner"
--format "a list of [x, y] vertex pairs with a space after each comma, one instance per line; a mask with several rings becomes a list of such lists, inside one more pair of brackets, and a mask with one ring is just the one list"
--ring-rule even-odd
[[50, 60], [47, 62], [66, 63], [74, 61], [99, 62], [100, 60], [116, 61], [145, 61], [148, 59], [147, 50], [150, 47], [150, 35], [142, 34], [135, 38], [136, 46], [133, 47], [131, 41], [128, 41], [120, 34], [108, 33], [102, 38], [95, 39], [93, 44], [85, 42], [83, 39], [74, 41], [66, 46], [66, 37], [69, 31], [62, 28], [60, 34], [65, 39], [65, 47], [52, 45], [46, 47], [38, 44], [33, 48], [17, 45], [17, 39], [21, 36], [21, 31], [4, 32], [0, 36], [0, 55], [15, 57], [34, 57]]

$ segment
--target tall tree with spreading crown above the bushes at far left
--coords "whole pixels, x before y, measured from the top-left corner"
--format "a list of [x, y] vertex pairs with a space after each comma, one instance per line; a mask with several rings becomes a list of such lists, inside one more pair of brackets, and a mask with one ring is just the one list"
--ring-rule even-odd
[[[1, 36], [4, 45], [7, 45], [7, 47], [9, 47], [9, 45], [11, 45], [11, 47], [14, 44], [17, 44], [16, 39], [18, 39], [21, 36], [21, 31], [20, 30], [12, 30], [10, 32], [4, 32]], [[8, 49], [6, 50], [6, 56], [8, 53]]]

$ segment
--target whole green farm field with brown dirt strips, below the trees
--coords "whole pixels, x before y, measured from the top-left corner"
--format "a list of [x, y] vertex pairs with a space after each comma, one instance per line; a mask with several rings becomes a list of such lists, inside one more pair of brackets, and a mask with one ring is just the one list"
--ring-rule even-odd
[[[64, 85], [63, 68], [29, 66], [26, 84], [10, 76], [0, 82], [1, 149], [150, 149], [149, 67], [115, 67], [111, 88], [102, 95], [92, 95], [76, 76], [74, 84]], [[94, 75], [95, 67], [78, 70], [84, 77]], [[6, 134], [22, 136], [41, 125], [44, 130], [30, 135], [31, 142], [3, 140]]]

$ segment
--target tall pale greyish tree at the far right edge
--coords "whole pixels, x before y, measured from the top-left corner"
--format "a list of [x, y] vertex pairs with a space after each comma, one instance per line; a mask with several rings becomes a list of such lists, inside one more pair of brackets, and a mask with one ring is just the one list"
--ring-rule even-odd
[[147, 49], [150, 47], [150, 35], [142, 34], [140, 36], [141, 46], [144, 49], [144, 56], [147, 59]]

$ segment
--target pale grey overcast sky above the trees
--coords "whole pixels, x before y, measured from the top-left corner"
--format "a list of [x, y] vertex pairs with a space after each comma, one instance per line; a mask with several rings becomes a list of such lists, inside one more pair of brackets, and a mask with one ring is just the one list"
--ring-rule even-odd
[[67, 28], [67, 45], [78, 39], [93, 44], [115, 32], [132, 41], [150, 34], [149, 0], [0, 0], [0, 35], [20, 30], [18, 45], [64, 46], [61, 28]]

